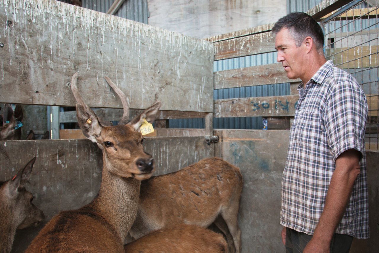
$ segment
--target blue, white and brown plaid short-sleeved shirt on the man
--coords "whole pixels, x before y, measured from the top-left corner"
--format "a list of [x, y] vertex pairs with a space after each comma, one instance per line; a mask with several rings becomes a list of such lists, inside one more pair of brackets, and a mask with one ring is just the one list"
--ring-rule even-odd
[[335, 233], [368, 238], [366, 97], [357, 81], [332, 61], [327, 61], [305, 88], [301, 86], [282, 176], [280, 224], [313, 234], [323, 212], [335, 160], [353, 148], [362, 153], [361, 170]]

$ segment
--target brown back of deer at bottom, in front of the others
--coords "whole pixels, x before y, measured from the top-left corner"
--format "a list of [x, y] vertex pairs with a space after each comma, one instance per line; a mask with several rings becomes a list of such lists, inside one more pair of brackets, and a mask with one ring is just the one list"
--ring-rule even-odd
[[210, 229], [179, 224], [158, 229], [124, 245], [125, 253], [226, 253], [222, 234]]

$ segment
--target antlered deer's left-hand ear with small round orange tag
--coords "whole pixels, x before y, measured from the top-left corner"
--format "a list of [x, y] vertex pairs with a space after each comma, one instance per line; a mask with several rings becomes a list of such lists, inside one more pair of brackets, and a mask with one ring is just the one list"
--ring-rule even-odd
[[87, 105], [76, 104], [76, 116], [84, 136], [92, 142], [97, 142], [96, 137], [100, 135], [103, 127], [96, 114]]

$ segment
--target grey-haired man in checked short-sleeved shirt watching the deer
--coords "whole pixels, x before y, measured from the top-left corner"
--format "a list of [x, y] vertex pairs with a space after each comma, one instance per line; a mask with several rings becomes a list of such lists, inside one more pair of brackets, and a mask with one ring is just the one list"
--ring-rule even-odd
[[283, 244], [287, 252], [349, 252], [353, 237], [369, 235], [365, 95], [326, 61], [311, 16], [290, 13], [272, 32], [287, 77], [302, 80], [282, 176]]

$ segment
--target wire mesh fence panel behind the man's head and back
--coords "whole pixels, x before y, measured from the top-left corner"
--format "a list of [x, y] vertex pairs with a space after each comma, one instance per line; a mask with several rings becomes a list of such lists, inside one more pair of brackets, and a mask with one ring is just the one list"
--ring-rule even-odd
[[366, 94], [369, 112], [366, 149], [379, 148], [379, 27], [377, 6], [352, 1], [321, 20], [325, 54], [335, 66], [352, 74]]

